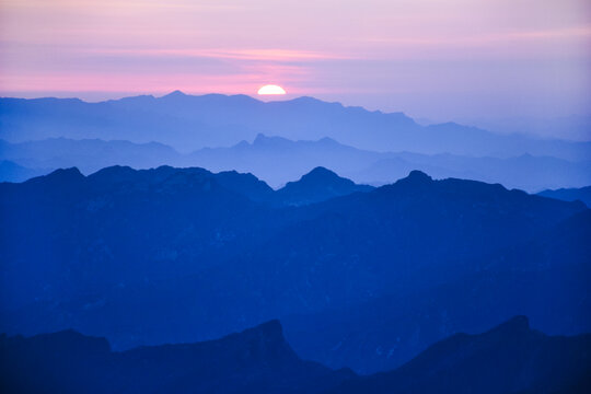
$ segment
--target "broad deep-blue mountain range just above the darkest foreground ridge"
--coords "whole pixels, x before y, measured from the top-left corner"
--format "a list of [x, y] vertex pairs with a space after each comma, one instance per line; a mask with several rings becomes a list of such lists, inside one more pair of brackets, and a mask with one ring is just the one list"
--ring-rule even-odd
[[[548, 241], [540, 240], [560, 223], [563, 235], [547, 240], [578, 234], [581, 224], [568, 219], [587, 211], [582, 202], [472, 181], [433, 181], [421, 172], [299, 207], [278, 204], [278, 194], [253, 175], [173, 167], [111, 167], [90, 176], [62, 170], [1, 184], [0, 329], [30, 335], [72, 327], [106, 336], [120, 349], [216, 338], [275, 317], [332, 315], [387, 297], [402, 298], [422, 315], [430, 298], [415, 292], [438, 293], [445, 286], [443, 294], [462, 296], [434, 299], [434, 308], [448, 309], [454, 300], [454, 310], [486, 311], [489, 282], [474, 281], [482, 286], [468, 287], [474, 294], [466, 298], [466, 278], [505, 275], [507, 267], [495, 256], [512, 247], [519, 256], [507, 259], [514, 262], [512, 270], [531, 270], [540, 258], [546, 258], [542, 267], [555, 267], [542, 274], [552, 278], [556, 309], [540, 312], [540, 302], [525, 299], [499, 304], [498, 316], [521, 305], [519, 313], [535, 315], [536, 325], [553, 333], [591, 326], [580, 317], [584, 303], [570, 302], [580, 296], [579, 283], [589, 282], [588, 263], [580, 262], [584, 244], [565, 241], [568, 253], [559, 257], [530, 244], [537, 240], [543, 246]], [[511, 285], [520, 281], [499, 286], [493, 300], [528, 296], [526, 288], [520, 292]], [[535, 287], [530, 292], [538, 294]], [[416, 323], [421, 332], [429, 326]], [[416, 341], [401, 335], [414, 345], [392, 357], [405, 361], [442, 335], [489, 323], [482, 314], [454, 317], [450, 331], [443, 326], [438, 335]], [[296, 328], [290, 323], [288, 335], [300, 348]], [[337, 331], [326, 333], [339, 337]], [[317, 344], [314, 358], [326, 350], [327, 343]], [[354, 350], [360, 364], [387, 367], [367, 348]]]

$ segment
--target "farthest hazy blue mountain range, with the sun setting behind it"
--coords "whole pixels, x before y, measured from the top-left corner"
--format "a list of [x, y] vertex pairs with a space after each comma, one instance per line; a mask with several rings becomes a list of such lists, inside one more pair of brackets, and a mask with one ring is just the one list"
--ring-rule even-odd
[[101, 103], [77, 99], [0, 99], [0, 138], [50, 137], [161, 142], [188, 152], [253, 140], [263, 132], [292, 140], [324, 137], [359, 149], [436, 154], [591, 159], [588, 142], [495, 135], [453, 123], [420, 126], [402, 113], [370, 112], [312, 97], [264, 103], [245, 95], [136, 96]]

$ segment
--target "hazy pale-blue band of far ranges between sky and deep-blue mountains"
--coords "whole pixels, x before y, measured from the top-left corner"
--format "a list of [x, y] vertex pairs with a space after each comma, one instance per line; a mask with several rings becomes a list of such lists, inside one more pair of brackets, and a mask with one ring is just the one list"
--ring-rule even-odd
[[70, 166], [90, 174], [111, 165], [173, 165], [251, 172], [275, 188], [316, 166], [373, 185], [413, 170], [529, 192], [591, 183], [591, 142], [420, 126], [402, 113], [311, 97], [0, 99], [0, 181], [9, 182]]

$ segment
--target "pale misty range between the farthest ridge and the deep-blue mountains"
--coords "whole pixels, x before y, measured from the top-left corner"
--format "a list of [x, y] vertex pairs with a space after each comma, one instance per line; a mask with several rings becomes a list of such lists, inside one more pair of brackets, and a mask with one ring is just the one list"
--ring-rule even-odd
[[[111, 165], [149, 169], [167, 164], [201, 166], [211, 171], [235, 170], [253, 173], [273, 187], [281, 187], [316, 166], [332, 169], [357, 183], [374, 185], [392, 183], [413, 170], [428, 172], [436, 178], [472, 178], [529, 192], [582, 186], [591, 179], [591, 162], [532, 155], [498, 159], [375, 152], [344, 146], [329, 138], [291, 141], [264, 135], [258, 135], [252, 143], [242, 141], [230, 148], [206, 148], [188, 154], [181, 154], [160, 143], [65, 138], [23, 143], [0, 141], [0, 158], [28, 169], [77, 166], [84, 174]], [[0, 167], [0, 181], [24, 181], [14, 178], [10, 169], [5, 171], [4, 175]], [[30, 173], [42, 175], [50, 172], [35, 171]]]

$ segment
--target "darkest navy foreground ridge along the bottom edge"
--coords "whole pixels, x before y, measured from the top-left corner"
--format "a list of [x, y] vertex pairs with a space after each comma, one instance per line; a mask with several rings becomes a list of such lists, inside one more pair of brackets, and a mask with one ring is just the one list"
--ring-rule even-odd
[[0, 337], [3, 393], [583, 393], [591, 335], [551, 337], [517, 316], [457, 334], [392, 372], [356, 376], [302, 361], [278, 321], [198, 344], [113, 352], [72, 331]]

